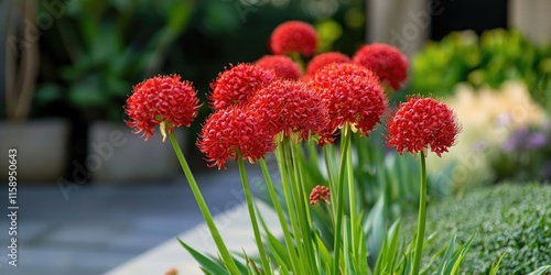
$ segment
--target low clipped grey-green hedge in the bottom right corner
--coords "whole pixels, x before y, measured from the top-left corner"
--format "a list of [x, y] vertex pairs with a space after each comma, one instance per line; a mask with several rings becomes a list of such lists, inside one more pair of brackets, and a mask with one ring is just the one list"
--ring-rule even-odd
[[[549, 185], [505, 184], [429, 206], [428, 233], [436, 235], [428, 243], [424, 256], [436, 253], [450, 232], [456, 232], [457, 242], [464, 243], [476, 231], [463, 272], [489, 274], [491, 263], [503, 256], [497, 274], [528, 274], [551, 263], [549, 198]], [[406, 234], [414, 232], [415, 217], [407, 217], [403, 224]]]

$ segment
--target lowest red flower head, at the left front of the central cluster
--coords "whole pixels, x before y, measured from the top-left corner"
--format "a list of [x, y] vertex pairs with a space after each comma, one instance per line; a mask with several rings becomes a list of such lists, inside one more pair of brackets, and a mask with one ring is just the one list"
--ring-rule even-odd
[[261, 118], [246, 106], [235, 106], [212, 113], [201, 132], [197, 147], [206, 155], [209, 167], [226, 168], [229, 157], [251, 163], [273, 150], [276, 143], [273, 134], [267, 131]]

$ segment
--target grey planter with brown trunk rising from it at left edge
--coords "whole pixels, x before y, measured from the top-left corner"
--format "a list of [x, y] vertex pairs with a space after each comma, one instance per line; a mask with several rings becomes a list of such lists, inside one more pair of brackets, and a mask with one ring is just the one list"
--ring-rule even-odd
[[[15, 150], [18, 180], [55, 180], [66, 170], [69, 125], [63, 119], [33, 116], [40, 113], [40, 108], [34, 107], [47, 106], [56, 99], [37, 97], [42, 95], [36, 87], [40, 31], [33, 25], [37, 1], [9, 1], [7, 6], [8, 16], [0, 22], [6, 30], [6, 41], [1, 43], [6, 59], [0, 69], [6, 76], [1, 84], [6, 120], [0, 121], [0, 150]], [[8, 158], [2, 157], [0, 165], [8, 167]], [[6, 177], [7, 174], [2, 176]]]

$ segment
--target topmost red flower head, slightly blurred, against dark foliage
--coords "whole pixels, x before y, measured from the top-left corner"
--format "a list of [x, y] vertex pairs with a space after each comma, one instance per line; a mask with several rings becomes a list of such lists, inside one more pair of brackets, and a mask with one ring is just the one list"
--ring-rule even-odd
[[288, 21], [273, 30], [270, 47], [276, 55], [300, 53], [310, 57], [317, 48], [317, 35], [309, 23]]

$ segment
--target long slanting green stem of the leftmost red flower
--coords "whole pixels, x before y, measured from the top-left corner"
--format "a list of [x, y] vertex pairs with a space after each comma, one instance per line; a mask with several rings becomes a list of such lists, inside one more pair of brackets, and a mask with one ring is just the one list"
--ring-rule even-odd
[[185, 161], [184, 154], [182, 153], [182, 150], [180, 148], [180, 145], [177, 144], [177, 141], [176, 141], [176, 138], [174, 136], [174, 133], [170, 133], [169, 136], [170, 136], [171, 143], [172, 143], [172, 147], [174, 148], [174, 152], [176, 153], [177, 160], [180, 161], [180, 165], [182, 166], [182, 170], [184, 172], [185, 177], [187, 178], [187, 183], [190, 183], [190, 187], [192, 189], [193, 196], [195, 197], [195, 200], [197, 201], [197, 205], [201, 209], [201, 212], [203, 213], [203, 217], [205, 218], [205, 222], [208, 227], [208, 230], [210, 231], [210, 235], [213, 237], [213, 240], [216, 243], [216, 248], [218, 249], [218, 253], [220, 253], [220, 256], [225, 263], [226, 270], [233, 275], [239, 275], [239, 270], [237, 268], [237, 265], [234, 262], [231, 254], [229, 253], [228, 249], [226, 248], [224, 240], [222, 240], [220, 232], [218, 232], [218, 229], [216, 228], [216, 224], [213, 220], [213, 216], [210, 215], [210, 211], [208, 210], [208, 207], [205, 202], [205, 199], [203, 198], [203, 195], [201, 194], [201, 190], [197, 186], [197, 182], [195, 182], [195, 178], [193, 177], [192, 170], [190, 169], [190, 166], [187, 165], [187, 162]]

